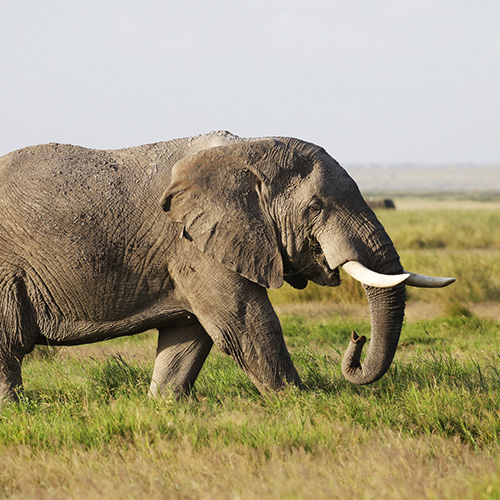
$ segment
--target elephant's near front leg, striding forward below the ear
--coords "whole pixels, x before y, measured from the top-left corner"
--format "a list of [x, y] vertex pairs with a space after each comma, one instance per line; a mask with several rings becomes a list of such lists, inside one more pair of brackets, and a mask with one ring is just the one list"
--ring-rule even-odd
[[193, 312], [217, 347], [243, 368], [260, 392], [300, 386], [266, 290], [240, 277], [238, 281], [239, 286], [219, 282], [198, 300], [191, 298]]

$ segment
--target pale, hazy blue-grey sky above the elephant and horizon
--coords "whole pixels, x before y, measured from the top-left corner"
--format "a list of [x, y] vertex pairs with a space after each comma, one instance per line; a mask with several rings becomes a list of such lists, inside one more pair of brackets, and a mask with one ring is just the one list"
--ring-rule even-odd
[[500, 1], [0, 0], [0, 155], [220, 129], [500, 164]]

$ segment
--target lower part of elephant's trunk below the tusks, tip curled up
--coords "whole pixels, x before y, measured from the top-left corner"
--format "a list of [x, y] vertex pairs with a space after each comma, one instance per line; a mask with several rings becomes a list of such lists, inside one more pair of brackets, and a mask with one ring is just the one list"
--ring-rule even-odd
[[361, 363], [366, 338], [353, 332], [342, 360], [342, 372], [354, 384], [371, 384], [387, 372], [396, 353], [405, 309], [404, 284], [393, 288], [364, 288], [372, 325], [368, 353]]

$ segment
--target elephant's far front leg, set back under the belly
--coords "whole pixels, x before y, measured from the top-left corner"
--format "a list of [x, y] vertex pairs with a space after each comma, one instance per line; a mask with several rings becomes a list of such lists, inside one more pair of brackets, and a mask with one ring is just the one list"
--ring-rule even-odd
[[196, 320], [159, 329], [150, 394], [165, 390], [188, 394], [212, 348], [213, 341]]

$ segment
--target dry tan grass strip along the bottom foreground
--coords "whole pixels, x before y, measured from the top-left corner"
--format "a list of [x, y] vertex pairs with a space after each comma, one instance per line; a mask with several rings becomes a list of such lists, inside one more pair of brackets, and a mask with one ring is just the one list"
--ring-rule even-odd
[[[499, 466], [457, 440], [401, 439], [339, 425], [335, 446], [312, 451], [189, 441], [3, 453], [3, 498], [480, 499], [500, 493]], [[30, 466], [26, 467], [29, 462]]]

